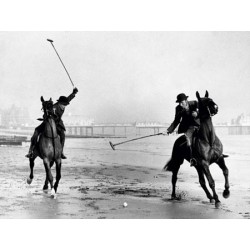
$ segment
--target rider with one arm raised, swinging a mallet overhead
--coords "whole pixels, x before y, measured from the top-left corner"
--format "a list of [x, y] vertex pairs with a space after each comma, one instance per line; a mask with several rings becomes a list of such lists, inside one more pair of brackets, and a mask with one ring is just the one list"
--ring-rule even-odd
[[[57, 100], [57, 102], [53, 105], [54, 119], [55, 119], [55, 123], [56, 123], [57, 133], [60, 136], [62, 150], [63, 150], [64, 143], [65, 143], [65, 131], [66, 131], [66, 129], [65, 129], [65, 126], [64, 126], [61, 118], [62, 118], [62, 115], [64, 113], [65, 107], [67, 105], [69, 105], [70, 101], [75, 97], [77, 92], [78, 92], [78, 89], [74, 88], [73, 92], [68, 97], [60, 96], [59, 99]], [[33, 157], [33, 151], [34, 151], [34, 148], [36, 146], [38, 136], [43, 132], [43, 130], [44, 130], [44, 123], [41, 123], [38, 127], [35, 128], [35, 132], [34, 132], [33, 136], [31, 137], [31, 144], [30, 144], [30, 148], [29, 148], [29, 153], [27, 155], [25, 155], [27, 158]], [[61, 158], [67, 159], [67, 157], [64, 155], [63, 151], [61, 154]]]

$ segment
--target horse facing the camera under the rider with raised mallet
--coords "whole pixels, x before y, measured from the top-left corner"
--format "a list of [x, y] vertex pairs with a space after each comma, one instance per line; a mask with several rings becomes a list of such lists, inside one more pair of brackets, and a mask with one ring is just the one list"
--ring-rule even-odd
[[[39, 156], [43, 160], [43, 164], [46, 171], [46, 180], [43, 186], [43, 190], [48, 190], [48, 183], [51, 187], [51, 196], [56, 197], [59, 181], [61, 179], [61, 153], [62, 146], [60, 143], [60, 137], [57, 134], [56, 124], [53, 118], [53, 102], [50, 98], [49, 101], [44, 101], [41, 97], [44, 116], [44, 132], [39, 136], [38, 143], [34, 149], [34, 156], [30, 158], [30, 175], [27, 179], [27, 183], [31, 184], [33, 176], [33, 168], [35, 165], [35, 159]], [[41, 120], [41, 119], [39, 119]], [[56, 182], [53, 184], [53, 176], [51, 173], [51, 167], [54, 162], [56, 163]]]

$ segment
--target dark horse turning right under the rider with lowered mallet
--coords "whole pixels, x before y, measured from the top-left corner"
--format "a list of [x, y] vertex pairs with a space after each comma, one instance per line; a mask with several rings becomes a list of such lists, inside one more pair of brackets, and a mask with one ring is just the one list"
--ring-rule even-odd
[[[195, 166], [201, 187], [204, 189], [207, 198], [210, 202], [215, 201], [215, 207], [220, 206], [220, 200], [215, 191], [215, 182], [210, 173], [209, 166], [212, 163], [219, 165], [223, 171], [225, 177], [225, 190], [223, 192], [223, 197], [228, 198], [230, 195], [229, 182], [228, 182], [228, 168], [226, 167], [223, 154], [223, 146], [219, 138], [215, 134], [214, 126], [212, 124], [212, 116], [218, 113], [218, 106], [214, 101], [208, 97], [209, 94], [206, 91], [205, 97], [201, 98], [199, 93], [196, 92], [196, 97], [198, 99], [199, 105], [199, 116], [200, 116], [200, 128], [195, 135], [193, 143], [193, 153], [197, 159], [197, 164]], [[174, 143], [172, 156], [169, 162], [164, 167], [164, 170], [172, 172], [172, 199], [177, 199], [175, 194], [175, 186], [177, 181], [177, 174], [180, 165], [183, 164], [184, 159], [190, 161], [189, 151], [186, 146], [185, 136], [180, 136]], [[210, 194], [207, 186], [205, 177], [208, 180], [209, 186], [212, 189], [213, 195]]]

